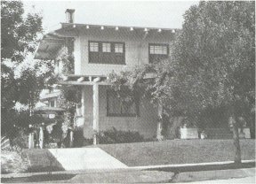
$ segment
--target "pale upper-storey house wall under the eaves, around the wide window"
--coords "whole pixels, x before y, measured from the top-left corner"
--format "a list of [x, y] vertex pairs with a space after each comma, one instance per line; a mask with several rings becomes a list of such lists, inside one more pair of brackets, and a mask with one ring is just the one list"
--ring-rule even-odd
[[[168, 33], [146, 34], [134, 31], [81, 30], [75, 39], [75, 74], [107, 75], [112, 71], [132, 69], [132, 66], [148, 64], [148, 43], [168, 43], [171, 46], [173, 35]], [[90, 64], [88, 41], [108, 41], [125, 43], [125, 65]], [[171, 48], [171, 47], [169, 47]], [[169, 52], [171, 53], [171, 51]], [[79, 56], [80, 55], [80, 56]]]

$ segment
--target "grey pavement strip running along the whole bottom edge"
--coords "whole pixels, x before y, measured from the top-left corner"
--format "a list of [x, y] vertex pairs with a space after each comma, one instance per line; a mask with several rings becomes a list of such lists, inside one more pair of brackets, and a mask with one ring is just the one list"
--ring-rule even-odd
[[[247, 178], [247, 179], [246, 179]], [[249, 178], [249, 179], [248, 179]], [[230, 183], [230, 179], [255, 180], [255, 168], [218, 171], [200, 171], [174, 174], [163, 171], [122, 170], [94, 173], [53, 173], [52, 175], [34, 173], [27, 177], [2, 178], [2, 182], [50, 182], [50, 183], [159, 183], [159, 182], [211, 182]], [[225, 183], [225, 182], [224, 182]]]

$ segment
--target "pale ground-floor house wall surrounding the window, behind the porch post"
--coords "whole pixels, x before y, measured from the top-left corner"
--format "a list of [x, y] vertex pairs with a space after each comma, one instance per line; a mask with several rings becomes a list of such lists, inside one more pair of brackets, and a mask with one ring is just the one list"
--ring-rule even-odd
[[[113, 126], [117, 130], [138, 131], [144, 138], [152, 138], [156, 135], [157, 110], [147, 100], [140, 101], [139, 117], [108, 117], [107, 116], [107, 89], [108, 86], [99, 86], [99, 130], [108, 130]], [[84, 137], [92, 138], [92, 86], [85, 86], [84, 97]]]

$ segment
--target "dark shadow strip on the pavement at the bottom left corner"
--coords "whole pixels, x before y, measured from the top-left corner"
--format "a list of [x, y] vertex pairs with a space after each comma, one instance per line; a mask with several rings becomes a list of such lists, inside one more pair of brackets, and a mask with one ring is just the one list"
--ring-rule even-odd
[[3, 183], [22, 183], [22, 182], [43, 182], [53, 180], [70, 180], [76, 174], [40, 174], [29, 177], [17, 177], [17, 178], [2, 178]]

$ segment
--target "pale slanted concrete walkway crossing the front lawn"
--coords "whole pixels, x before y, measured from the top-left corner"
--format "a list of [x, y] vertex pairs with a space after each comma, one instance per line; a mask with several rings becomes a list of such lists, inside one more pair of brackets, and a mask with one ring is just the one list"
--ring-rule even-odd
[[66, 171], [128, 168], [100, 148], [49, 149]]

